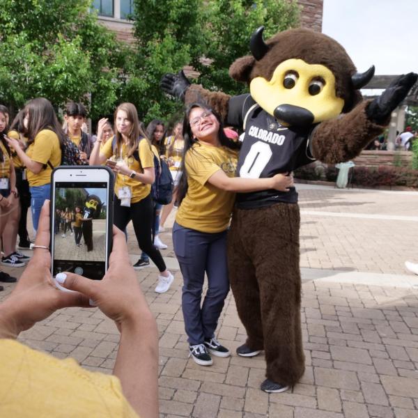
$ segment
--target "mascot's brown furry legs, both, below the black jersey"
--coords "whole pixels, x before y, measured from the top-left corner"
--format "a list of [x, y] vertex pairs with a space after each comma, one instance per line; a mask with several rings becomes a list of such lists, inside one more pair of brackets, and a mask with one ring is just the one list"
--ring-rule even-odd
[[304, 373], [299, 229], [299, 206], [277, 203], [235, 209], [228, 236], [229, 279], [247, 345], [265, 350], [266, 377], [281, 385], [295, 385]]

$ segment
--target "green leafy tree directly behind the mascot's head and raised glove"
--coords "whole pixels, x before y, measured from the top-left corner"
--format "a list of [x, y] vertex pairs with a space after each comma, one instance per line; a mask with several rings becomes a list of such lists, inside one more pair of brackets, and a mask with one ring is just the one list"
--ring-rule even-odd
[[258, 26], [266, 37], [296, 26], [299, 9], [291, 0], [134, 0], [136, 77], [127, 79], [123, 97], [137, 104], [149, 121], [178, 112], [181, 105], [160, 91], [166, 72], [192, 65], [194, 82], [239, 94], [247, 86], [228, 75], [231, 63], [249, 54], [249, 39]]

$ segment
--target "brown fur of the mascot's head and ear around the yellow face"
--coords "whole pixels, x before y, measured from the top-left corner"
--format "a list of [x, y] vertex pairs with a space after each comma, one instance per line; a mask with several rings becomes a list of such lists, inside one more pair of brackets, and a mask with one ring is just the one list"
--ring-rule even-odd
[[265, 42], [269, 51], [260, 61], [253, 56], [244, 56], [232, 63], [229, 75], [249, 84], [254, 77], [272, 78], [279, 63], [287, 59], [303, 59], [308, 64], [321, 64], [335, 76], [336, 96], [345, 102], [343, 112], [353, 109], [362, 100], [362, 95], [353, 88], [351, 76], [356, 68], [336, 40], [309, 29], [291, 29], [277, 33]]

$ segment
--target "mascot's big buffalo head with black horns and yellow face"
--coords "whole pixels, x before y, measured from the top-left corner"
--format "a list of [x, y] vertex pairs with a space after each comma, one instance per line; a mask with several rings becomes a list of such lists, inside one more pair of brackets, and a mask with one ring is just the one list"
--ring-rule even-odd
[[373, 77], [358, 73], [336, 40], [291, 29], [264, 42], [264, 27], [251, 36], [251, 56], [237, 59], [229, 75], [249, 84], [252, 98], [283, 125], [306, 126], [346, 113], [362, 100], [359, 89]]

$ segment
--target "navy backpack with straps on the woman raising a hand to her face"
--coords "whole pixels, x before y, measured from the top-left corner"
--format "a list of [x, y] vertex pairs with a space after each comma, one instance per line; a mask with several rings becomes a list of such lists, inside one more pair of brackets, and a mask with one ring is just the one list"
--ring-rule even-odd
[[[116, 137], [114, 137], [114, 139], [111, 141], [111, 149], [113, 150], [113, 153], [115, 153]], [[153, 198], [153, 201], [160, 203], [160, 205], [168, 205], [171, 202], [171, 199], [173, 199], [173, 177], [171, 176], [167, 162], [161, 160], [161, 158], [158, 158], [154, 153], [153, 157], [155, 180], [151, 185], [151, 197]], [[139, 162], [141, 170], [144, 171], [142, 169], [141, 160], [139, 158], [139, 150], [134, 153], [134, 159]]]

